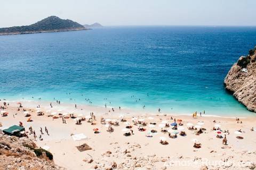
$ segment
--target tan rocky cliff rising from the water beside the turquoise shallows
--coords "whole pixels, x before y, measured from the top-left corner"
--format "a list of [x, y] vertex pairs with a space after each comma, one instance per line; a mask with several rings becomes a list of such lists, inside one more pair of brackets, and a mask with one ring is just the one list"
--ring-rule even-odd
[[[255, 47], [256, 48], [256, 47]], [[249, 55], [241, 56], [224, 80], [226, 89], [249, 111], [256, 112], [256, 53], [251, 49]]]

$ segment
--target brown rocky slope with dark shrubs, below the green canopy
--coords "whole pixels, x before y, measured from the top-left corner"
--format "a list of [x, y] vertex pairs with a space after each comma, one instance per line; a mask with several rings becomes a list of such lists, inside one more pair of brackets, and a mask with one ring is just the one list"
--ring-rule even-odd
[[0, 169], [56, 170], [64, 169], [54, 164], [52, 154], [27, 138], [0, 134]]

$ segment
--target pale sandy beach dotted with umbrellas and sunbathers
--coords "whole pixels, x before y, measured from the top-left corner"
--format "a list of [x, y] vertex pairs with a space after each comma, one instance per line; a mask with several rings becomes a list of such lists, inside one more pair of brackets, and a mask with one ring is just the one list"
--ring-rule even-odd
[[[185, 115], [170, 115], [165, 113], [145, 113], [134, 112], [128, 109], [119, 110], [119, 108], [81, 106], [77, 108], [73, 104], [57, 104], [45, 101], [22, 101], [20, 111], [17, 101], [6, 101], [9, 103], [4, 110], [8, 116], [1, 116], [2, 127], [9, 127], [13, 124], [23, 123], [26, 131], [31, 126], [35, 130], [37, 138], [36, 144], [42, 148], [49, 147], [49, 151], [54, 156], [55, 164], [67, 169], [249, 169], [255, 168], [256, 160], [256, 117], [239, 117], [239, 123], [236, 117], [213, 117], [202, 114], [196, 117]], [[3, 105], [3, 101], [1, 102]], [[40, 108], [37, 109], [37, 106]], [[31, 115], [32, 122], [27, 122], [23, 108]], [[37, 116], [36, 111], [41, 110], [44, 115]], [[3, 111], [3, 109], [1, 109]], [[110, 111], [110, 112], [109, 112]], [[56, 112], [57, 114], [55, 114]], [[73, 112], [75, 117], [86, 117], [91, 112], [94, 113], [96, 120], [93, 124], [86, 118], [77, 125], [74, 118], [65, 118], [66, 123], [62, 123], [62, 116], [58, 115]], [[59, 118], [54, 119], [49, 117]], [[129, 114], [127, 114], [129, 113]], [[81, 116], [80, 114], [83, 114]], [[69, 114], [68, 114], [69, 115]], [[78, 116], [80, 115], [80, 116]], [[121, 116], [120, 116], [121, 115]], [[136, 117], [136, 118], [133, 118]], [[150, 117], [150, 118], [149, 118]], [[106, 124], [101, 123], [101, 118], [115, 119], [118, 126], [112, 125], [113, 132], [107, 132]], [[172, 118], [172, 119], [171, 119]], [[183, 125], [177, 125], [178, 130], [172, 130], [175, 120], [182, 120]], [[122, 122], [124, 119], [126, 122]], [[143, 119], [143, 120], [140, 120]], [[145, 122], [145, 131], [139, 131], [139, 125], [134, 122]], [[170, 124], [171, 134], [178, 133], [177, 138], [169, 138], [169, 132], [161, 132], [161, 124]], [[242, 123], [241, 123], [242, 121]], [[126, 126], [132, 126], [133, 134], [126, 137], [124, 133], [131, 132]], [[155, 123], [155, 126], [150, 124]], [[188, 123], [197, 125], [197, 130], [189, 130]], [[47, 135], [44, 131], [45, 126], [49, 131]], [[213, 127], [220, 128], [213, 130]], [[42, 139], [38, 137], [43, 129]], [[197, 131], [203, 128], [202, 134], [197, 135]], [[251, 129], [254, 128], [254, 131]], [[98, 134], [93, 129], [98, 129]], [[125, 130], [127, 129], [127, 130]], [[151, 130], [156, 133], [149, 133]], [[205, 130], [204, 130], [205, 129]], [[225, 133], [225, 131], [227, 131]], [[237, 131], [241, 130], [242, 133]], [[186, 136], [181, 136], [180, 131], [185, 131]], [[71, 134], [83, 133], [87, 138], [85, 140], [74, 141]], [[227, 138], [227, 145], [222, 144], [223, 138], [217, 138], [217, 134]], [[151, 135], [152, 137], [146, 137]], [[33, 134], [28, 135], [34, 140]], [[243, 139], [236, 138], [237, 136]], [[166, 138], [168, 145], [161, 145], [160, 140]], [[161, 139], [160, 139], [161, 138]], [[164, 139], [165, 140], [165, 139]], [[86, 143], [92, 149], [79, 151], [76, 146]], [[193, 147], [194, 144], [201, 144], [201, 148]]]

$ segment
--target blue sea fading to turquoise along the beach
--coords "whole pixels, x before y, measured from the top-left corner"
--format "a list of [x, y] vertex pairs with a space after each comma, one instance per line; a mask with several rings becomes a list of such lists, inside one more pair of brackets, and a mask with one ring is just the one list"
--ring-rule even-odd
[[223, 79], [255, 45], [256, 27], [105, 27], [0, 36], [0, 98], [253, 115], [225, 91]]

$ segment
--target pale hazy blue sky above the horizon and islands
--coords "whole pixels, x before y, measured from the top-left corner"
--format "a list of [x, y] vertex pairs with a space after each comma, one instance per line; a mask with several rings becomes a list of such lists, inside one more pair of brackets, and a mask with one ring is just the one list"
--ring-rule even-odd
[[256, 0], [2, 0], [0, 27], [56, 15], [81, 24], [256, 25]]

